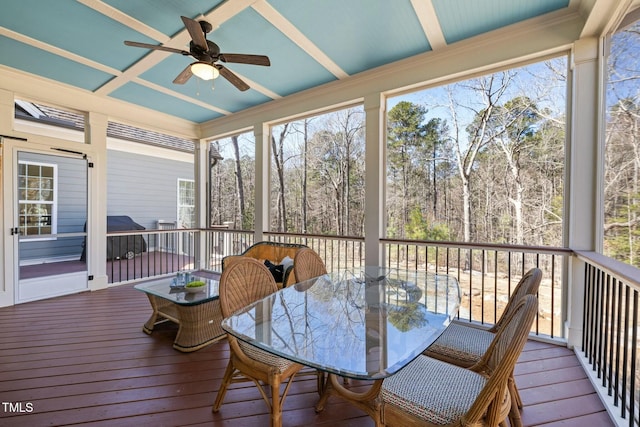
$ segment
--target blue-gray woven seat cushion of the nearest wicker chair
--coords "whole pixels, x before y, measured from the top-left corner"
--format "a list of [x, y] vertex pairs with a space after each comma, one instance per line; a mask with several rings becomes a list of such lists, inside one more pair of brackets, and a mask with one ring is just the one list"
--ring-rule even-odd
[[380, 395], [384, 404], [432, 424], [448, 424], [467, 413], [486, 383], [468, 369], [418, 356], [384, 380]]

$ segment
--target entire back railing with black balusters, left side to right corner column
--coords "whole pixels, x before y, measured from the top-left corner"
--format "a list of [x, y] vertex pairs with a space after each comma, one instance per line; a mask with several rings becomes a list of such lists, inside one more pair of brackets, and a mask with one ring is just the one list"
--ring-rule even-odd
[[[107, 260], [109, 283], [202, 268], [221, 271], [222, 258], [242, 253], [255, 243], [251, 231], [220, 229], [171, 229], [108, 233], [108, 239], [125, 239], [124, 247], [134, 246], [132, 236], [142, 236], [146, 251], [131, 259]], [[200, 242], [203, 256], [199, 256]], [[364, 238], [294, 233], [265, 233], [265, 239], [305, 244], [320, 254], [328, 271], [365, 265]], [[453, 275], [460, 284], [460, 320], [492, 325], [499, 318], [519, 278], [532, 267], [543, 271], [539, 290], [539, 313], [533, 332], [551, 338], [564, 338], [566, 268], [571, 251], [562, 248], [478, 245], [456, 242], [424, 242], [383, 239], [389, 267], [416, 269]]]

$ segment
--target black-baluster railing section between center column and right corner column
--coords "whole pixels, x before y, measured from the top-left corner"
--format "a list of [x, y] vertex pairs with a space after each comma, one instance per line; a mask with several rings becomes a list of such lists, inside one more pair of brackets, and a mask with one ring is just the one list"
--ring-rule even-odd
[[540, 268], [539, 309], [532, 332], [564, 338], [564, 278], [570, 250], [390, 239], [383, 239], [382, 244], [390, 267], [454, 276], [461, 293], [458, 319], [479, 324], [495, 324], [518, 280], [529, 269]]

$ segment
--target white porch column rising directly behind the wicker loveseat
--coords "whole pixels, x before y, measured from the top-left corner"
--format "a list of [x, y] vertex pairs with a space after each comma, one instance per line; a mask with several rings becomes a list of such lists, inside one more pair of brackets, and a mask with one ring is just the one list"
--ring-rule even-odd
[[269, 177], [271, 173], [269, 161], [269, 126], [258, 123], [253, 127], [256, 141], [256, 212], [255, 212], [255, 241], [265, 240], [264, 232], [269, 231]]

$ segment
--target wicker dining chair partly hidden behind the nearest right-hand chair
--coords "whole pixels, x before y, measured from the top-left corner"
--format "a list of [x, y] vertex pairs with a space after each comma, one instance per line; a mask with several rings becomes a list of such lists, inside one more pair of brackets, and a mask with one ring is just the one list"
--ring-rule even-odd
[[[493, 327], [485, 330], [454, 322], [425, 350], [424, 354], [465, 368], [472, 366], [480, 360], [495, 334], [504, 326], [505, 319], [514, 309], [516, 303], [525, 295], [535, 295], [538, 292], [541, 280], [542, 271], [538, 268], [530, 269], [516, 285], [502, 316]], [[522, 399], [513, 375], [509, 378], [509, 389], [514, 403], [511, 416], [512, 424], [519, 425], [520, 414], [516, 408], [522, 409]]]

